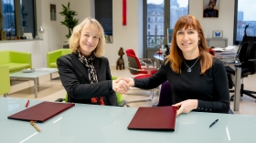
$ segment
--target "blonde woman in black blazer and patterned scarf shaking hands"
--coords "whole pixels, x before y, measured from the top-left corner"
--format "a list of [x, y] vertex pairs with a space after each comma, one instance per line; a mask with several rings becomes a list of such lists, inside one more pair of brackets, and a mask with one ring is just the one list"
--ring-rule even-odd
[[93, 18], [75, 26], [69, 38], [72, 53], [57, 60], [60, 80], [75, 103], [117, 106], [114, 91], [124, 93], [129, 86], [112, 81], [109, 61], [104, 53], [104, 31]]

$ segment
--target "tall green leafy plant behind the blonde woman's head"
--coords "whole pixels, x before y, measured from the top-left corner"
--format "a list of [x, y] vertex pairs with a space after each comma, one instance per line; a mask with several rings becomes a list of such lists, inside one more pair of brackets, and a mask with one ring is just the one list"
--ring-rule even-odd
[[[61, 4], [62, 5], [62, 4]], [[61, 25], [67, 26], [69, 28], [69, 34], [66, 35], [66, 37], [71, 36], [71, 32], [74, 28], [74, 26], [78, 25], [79, 20], [74, 18], [74, 15], [78, 15], [77, 12], [70, 10], [69, 3], [68, 6], [62, 5], [63, 11], [60, 12], [60, 15], [63, 15], [65, 17], [64, 21], [61, 21]]]

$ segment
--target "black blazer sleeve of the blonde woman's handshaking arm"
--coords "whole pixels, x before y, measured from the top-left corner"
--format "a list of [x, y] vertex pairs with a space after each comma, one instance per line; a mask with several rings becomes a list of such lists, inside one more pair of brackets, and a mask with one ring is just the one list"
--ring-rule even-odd
[[[59, 77], [62, 82], [63, 87], [65, 87], [66, 91], [68, 92], [69, 96], [80, 100], [80, 99], [88, 99], [91, 97], [108, 97], [113, 96], [112, 92], [112, 82], [108, 80], [104, 80], [98, 83], [89, 84], [89, 82], [80, 82], [85, 81], [85, 79], [79, 79], [83, 77], [80, 75], [79, 69], [74, 67], [74, 63], [72, 63], [71, 57], [67, 56], [60, 56], [57, 60], [57, 65], [59, 69]], [[101, 65], [104, 66], [104, 65]], [[105, 67], [104, 67], [105, 68]], [[108, 68], [108, 79], [110, 79], [110, 69]], [[102, 73], [106, 74], [106, 73]], [[80, 75], [80, 76], [78, 76]], [[111, 80], [111, 79], [110, 79]], [[110, 104], [114, 99], [110, 99]]]

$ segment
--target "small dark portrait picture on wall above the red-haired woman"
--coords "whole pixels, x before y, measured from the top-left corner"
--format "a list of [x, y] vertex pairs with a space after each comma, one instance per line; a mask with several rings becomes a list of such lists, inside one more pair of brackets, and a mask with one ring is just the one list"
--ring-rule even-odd
[[219, 17], [219, 0], [204, 0], [203, 17]]

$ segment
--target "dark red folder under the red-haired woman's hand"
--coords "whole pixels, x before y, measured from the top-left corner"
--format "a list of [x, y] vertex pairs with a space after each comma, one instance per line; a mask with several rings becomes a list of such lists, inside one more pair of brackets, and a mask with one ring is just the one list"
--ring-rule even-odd
[[172, 130], [176, 127], [176, 107], [139, 107], [128, 129]]

